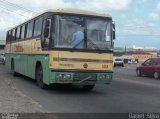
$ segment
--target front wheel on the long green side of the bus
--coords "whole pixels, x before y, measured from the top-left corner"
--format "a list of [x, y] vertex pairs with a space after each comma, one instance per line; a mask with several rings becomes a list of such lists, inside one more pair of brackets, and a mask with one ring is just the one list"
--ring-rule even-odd
[[37, 81], [37, 85], [41, 89], [46, 89], [47, 86], [43, 82], [43, 69], [41, 64], [36, 67], [36, 81]]

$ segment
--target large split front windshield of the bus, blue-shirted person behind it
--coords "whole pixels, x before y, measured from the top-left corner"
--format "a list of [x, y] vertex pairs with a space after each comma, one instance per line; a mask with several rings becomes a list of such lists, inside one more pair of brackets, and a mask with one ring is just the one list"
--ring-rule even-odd
[[55, 47], [76, 49], [112, 49], [111, 20], [97, 17], [60, 15]]

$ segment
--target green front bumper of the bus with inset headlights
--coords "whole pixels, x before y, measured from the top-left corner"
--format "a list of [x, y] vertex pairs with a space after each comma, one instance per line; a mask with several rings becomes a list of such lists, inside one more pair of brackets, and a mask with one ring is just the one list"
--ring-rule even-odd
[[55, 72], [55, 83], [58, 84], [110, 84], [112, 82], [113, 72]]

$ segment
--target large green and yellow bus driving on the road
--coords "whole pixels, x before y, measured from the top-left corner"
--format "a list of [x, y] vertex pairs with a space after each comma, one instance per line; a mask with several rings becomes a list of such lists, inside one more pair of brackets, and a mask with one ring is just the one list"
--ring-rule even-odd
[[13, 74], [51, 84], [91, 90], [112, 82], [115, 25], [108, 14], [76, 9], [48, 10], [10, 30], [6, 66]]

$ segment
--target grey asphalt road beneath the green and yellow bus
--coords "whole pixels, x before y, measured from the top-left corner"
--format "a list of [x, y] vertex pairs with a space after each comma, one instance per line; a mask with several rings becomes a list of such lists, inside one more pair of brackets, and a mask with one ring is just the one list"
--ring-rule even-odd
[[0, 78], [7, 77], [25, 95], [53, 113], [160, 112], [160, 80], [137, 77], [134, 65], [115, 67], [111, 85], [96, 85], [86, 92], [77, 87], [40, 89], [27, 77], [13, 77], [0, 65]]

